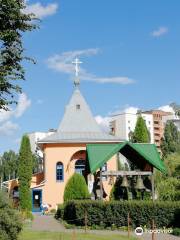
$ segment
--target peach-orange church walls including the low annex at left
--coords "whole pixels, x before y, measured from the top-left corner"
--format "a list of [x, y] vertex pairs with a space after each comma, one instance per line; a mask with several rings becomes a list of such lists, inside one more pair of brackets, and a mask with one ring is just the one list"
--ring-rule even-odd
[[[58, 204], [63, 203], [64, 188], [75, 172], [75, 161], [86, 159], [86, 144], [46, 144], [44, 145], [44, 157], [44, 173], [32, 176], [31, 188], [42, 189], [42, 202], [50, 204], [51, 208], [56, 208]], [[64, 180], [62, 182], [56, 181], [57, 162], [62, 162], [64, 165]], [[107, 170], [117, 170], [116, 155], [107, 162]], [[17, 180], [9, 181], [9, 192], [15, 186], [18, 186]], [[112, 188], [112, 185], [109, 185], [109, 178], [103, 180], [103, 187], [108, 195], [106, 200], [108, 200]]]

